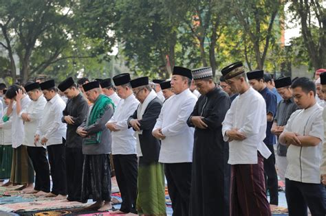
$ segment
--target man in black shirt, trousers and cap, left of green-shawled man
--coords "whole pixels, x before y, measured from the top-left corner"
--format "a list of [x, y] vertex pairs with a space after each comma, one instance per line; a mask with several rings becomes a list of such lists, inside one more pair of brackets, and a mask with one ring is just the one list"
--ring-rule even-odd
[[63, 123], [67, 123], [67, 137], [65, 143], [65, 165], [67, 169], [67, 189], [69, 201], [80, 201], [81, 182], [83, 173], [83, 138], [76, 133], [78, 126], [87, 117], [88, 104], [78, 91], [72, 77], [58, 85], [68, 98], [67, 106], [63, 110]]

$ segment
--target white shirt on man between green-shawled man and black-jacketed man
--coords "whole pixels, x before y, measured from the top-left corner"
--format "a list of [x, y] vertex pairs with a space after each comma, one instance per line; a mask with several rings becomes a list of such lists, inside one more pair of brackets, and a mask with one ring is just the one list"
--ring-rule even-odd
[[137, 154], [135, 132], [128, 128], [127, 120], [139, 104], [133, 94], [121, 99], [108, 123], [116, 123], [118, 130], [112, 134], [112, 154]]

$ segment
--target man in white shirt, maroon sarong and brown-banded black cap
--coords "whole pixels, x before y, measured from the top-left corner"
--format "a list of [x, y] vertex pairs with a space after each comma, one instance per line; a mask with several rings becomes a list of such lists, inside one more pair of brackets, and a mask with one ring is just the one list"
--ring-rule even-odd
[[263, 143], [265, 100], [249, 86], [241, 62], [230, 64], [221, 73], [232, 91], [239, 93], [222, 123], [224, 141], [229, 142], [230, 149], [230, 215], [272, 215], [263, 175], [263, 158], [271, 154]]

